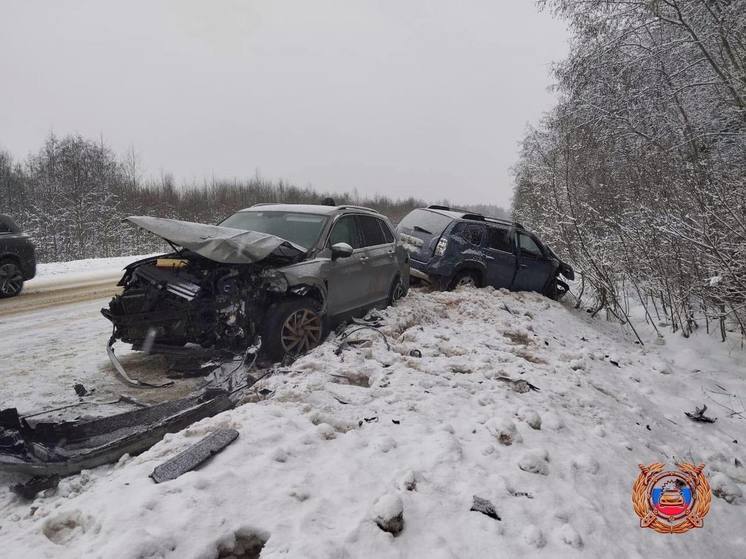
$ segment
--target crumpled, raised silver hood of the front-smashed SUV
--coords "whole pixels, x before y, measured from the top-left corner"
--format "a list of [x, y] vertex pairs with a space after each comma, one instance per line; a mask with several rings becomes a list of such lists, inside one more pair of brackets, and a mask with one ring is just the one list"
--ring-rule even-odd
[[297, 258], [306, 252], [290, 241], [257, 231], [163, 217], [130, 216], [125, 220], [174, 245], [224, 264], [252, 264], [273, 254]]

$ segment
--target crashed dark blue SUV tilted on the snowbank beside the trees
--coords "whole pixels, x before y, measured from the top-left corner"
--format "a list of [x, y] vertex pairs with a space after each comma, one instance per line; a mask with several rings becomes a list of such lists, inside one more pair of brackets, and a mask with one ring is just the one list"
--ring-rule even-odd
[[491, 285], [559, 299], [572, 267], [520, 223], [445, 206], [410, 212], [397, 230], [409, 251], [410, 275], [438, 289]]

